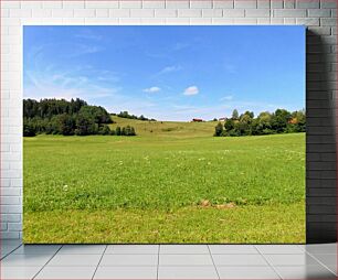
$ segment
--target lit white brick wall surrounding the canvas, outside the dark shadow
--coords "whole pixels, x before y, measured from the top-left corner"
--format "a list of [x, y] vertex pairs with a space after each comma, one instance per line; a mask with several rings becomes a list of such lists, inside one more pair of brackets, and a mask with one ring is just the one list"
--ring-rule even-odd
[[[22, 25], [306, 24], [313, 32], [309, 35], [318, 34], [324, 44], [318, 45], [318, 39], [308, 41], [308, 72], [324, 72], [327, 79], [326, 89], [331, 90], [337, 89], [336, 9], [336, 0], [2, 0], [1, 238], [22, 236]], [[323, 64], [323, 53], [327, 64]], [[308, 79], [317, 76], [309, 74]], [[308, 86], [317, 90], [323, 85], [309, 80]], [[314, 96], [315, 99], [323, 98], [316, 96], [316, 93], [318, 91], [308, 91], [308, 96]], [[331, 174], [325, 174], [328, 176], [327, 180], [330, 180]], [[325, 179], [325, 175], [319, 173], [317, 176], [318, 180]], [[318, 184], [314, 183], [314, 187], [318, 187]], [[309, 207], [309, 213], [310, 209]]]

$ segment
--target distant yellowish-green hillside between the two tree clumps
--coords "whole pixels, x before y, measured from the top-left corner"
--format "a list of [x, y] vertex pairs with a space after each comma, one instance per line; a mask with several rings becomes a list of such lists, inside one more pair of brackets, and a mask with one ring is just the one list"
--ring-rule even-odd
[[115, 123], [109, 125], [112, 129], [117, 126], [131, 126], [138, 136], [157, 137], [211, 137], [218, 121], [189, 122], [189, 121], [148, 121], [120, 118], [113, 116]]

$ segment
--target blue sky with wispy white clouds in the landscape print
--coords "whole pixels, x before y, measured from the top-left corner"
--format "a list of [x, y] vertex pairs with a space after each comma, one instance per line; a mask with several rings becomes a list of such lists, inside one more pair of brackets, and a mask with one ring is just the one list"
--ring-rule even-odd
[[304, 26], [24, 26], [24, 98], [158, 120], [305, 108]]

